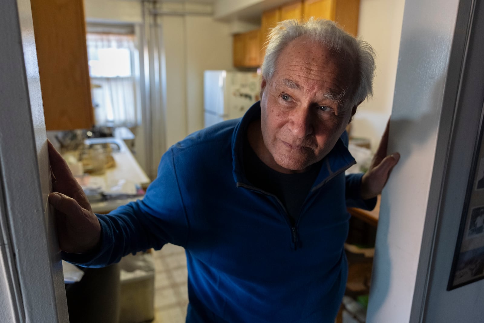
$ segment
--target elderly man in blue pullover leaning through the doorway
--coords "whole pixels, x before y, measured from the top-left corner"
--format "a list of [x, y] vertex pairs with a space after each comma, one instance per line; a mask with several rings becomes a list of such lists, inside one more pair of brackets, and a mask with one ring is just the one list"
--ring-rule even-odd
[[[333, 22], [272, 30], [261, 101], [172, 146], [143, 200], [94, 215], [51, 148], [63, 258], [105, 266], [166, 243], [188, 263], [187, 322], [334, 322], [347, 279], [347, 205], [372, 208], [398, 154], [363, 176], [345, 127], [372, 92], [372, 48]], [[64, 195], [65, 194], [65, 195]]]

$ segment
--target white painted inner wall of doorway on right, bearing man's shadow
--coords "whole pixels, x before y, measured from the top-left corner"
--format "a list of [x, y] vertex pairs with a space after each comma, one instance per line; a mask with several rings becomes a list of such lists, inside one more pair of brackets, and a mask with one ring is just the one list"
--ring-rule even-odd
[[422, 281], [417, 269], [422, 260], [424, 225], [427, 217], [435, 216], [427, 213], [432, 206], [429, 196], [439, 191], [439, 185], [434, 191], [430, 187], [442, 176], [434, 171], [445, 162], [435, 160], [435, 156], [438, 139], [448, 136], [449, 131], [441, 123], [441, 115], [444, 108], [454, 108], [447, 102], [444, 105], [444, 87], [458, 3], [405, 3], [389, 142], [389, 150], [400, 152], [401, 158], [382, 194], [369, 323], [418, 322], [410, 320], [410, 315], [416, 283]]

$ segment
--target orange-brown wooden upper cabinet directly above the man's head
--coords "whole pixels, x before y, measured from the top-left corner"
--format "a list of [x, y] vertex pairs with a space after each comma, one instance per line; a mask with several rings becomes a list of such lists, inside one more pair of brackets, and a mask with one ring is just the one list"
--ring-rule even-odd
[[329, 19], [337, 22], [353, 36], [358, 33], [360, 0], [305, 0], [303, 17]]

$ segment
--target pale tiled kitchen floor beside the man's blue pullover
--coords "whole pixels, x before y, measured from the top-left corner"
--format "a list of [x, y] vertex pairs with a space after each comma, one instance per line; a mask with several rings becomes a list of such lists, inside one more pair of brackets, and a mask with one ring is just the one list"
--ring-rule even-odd
[[188, 305], [185, 250], [168, 244], [152, 255], [155, 266], [153, 323], [184, 323]]

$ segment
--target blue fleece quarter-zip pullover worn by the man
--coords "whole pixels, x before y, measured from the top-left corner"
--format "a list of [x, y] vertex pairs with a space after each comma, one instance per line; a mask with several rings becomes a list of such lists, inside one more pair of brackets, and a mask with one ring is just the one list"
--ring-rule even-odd
[[186, 250], [189, 323], [333, 323], [348, 272], [347, 205], [372, 208], [375, 200], [360, 200], [361, 175], [345, 177], [355, 163], [345, 134], [291, 226], [280, 201], [244, 176], [243, 140], [259, 117], [256, 103], [242, 119], [172, 146], [143, 200], [97, 215], [99, 250], [63, 258], [100, 267], [172, 243]]

